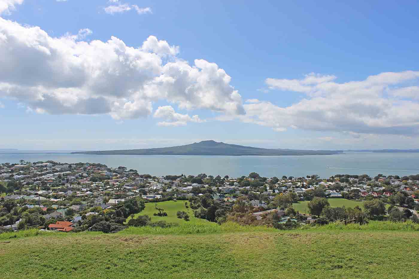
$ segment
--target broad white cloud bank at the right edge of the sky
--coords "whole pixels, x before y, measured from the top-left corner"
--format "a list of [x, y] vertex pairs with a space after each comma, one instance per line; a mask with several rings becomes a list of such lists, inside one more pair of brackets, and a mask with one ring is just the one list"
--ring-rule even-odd
[[[280, 107], [268, 101], [248, 103], [242, 121], [275, 130], [287, 127], [365, 134], [419, 134], [419, 72], [384, 72], [361, 81], [336, 83], [333, 75], [309, 74], [297, 80], [266, 79], [271, 89], [305, 98]], [[403, 98], [398, 98], [403, 97]]]

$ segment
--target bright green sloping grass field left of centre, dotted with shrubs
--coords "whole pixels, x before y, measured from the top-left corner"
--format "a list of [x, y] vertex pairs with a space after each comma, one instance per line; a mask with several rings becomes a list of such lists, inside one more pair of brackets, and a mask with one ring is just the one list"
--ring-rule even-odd
[[[138, 215], [148, 215], [151, 217], [151, 221], [152, 222], [156, 222], [156, 221], [166, 221], [169, 223], [178, 223], [178, 224], [185, 224], [185, 223], [207, 223], [207, 220], [203, 220], [203, 219], [199, 219], [194, 217], [194, 212], [193, 210], [189, 207], [189, 202], [188, 202], [188, 209], [186, 209], [185, 207], [185, 202], [187, 201], [167, 201], [167, 202], [158, 202], [157, 203], [157, 207], [159, 208], [164, 208], [165, 212], [167, 213], [168, 216], [165, 217], [160, 217], [160, 216], [153, 216], [154, 213], [158, 213], [158, 210], [155, 209], [155, 203], [154, 202], [148, 202], [145, 204], [145, 209], [138, 213], [135, 214], [135, 217], [137, 217]], [[176, 217], [176, 212], [178, 211], [186, 211], [189, 214], [189, 221], [185, 221], [183, 219], [179, 219], [178, 217]], [[127, 222], [129, 221], [129, 219], [131, 219], [131, 217], [128, 217]]]

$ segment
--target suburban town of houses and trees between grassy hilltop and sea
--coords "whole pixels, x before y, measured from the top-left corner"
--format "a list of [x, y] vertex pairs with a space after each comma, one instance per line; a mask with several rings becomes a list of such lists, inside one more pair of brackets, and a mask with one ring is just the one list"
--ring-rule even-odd
[[[109, 233], [128, 226], [177, 225], [164, 220], [168, 212], [160, 204], [165, 202], [187, 209], [176, 212], [185, 221], [232, 221], [278, 229], [328, 222], [418, 222], [419, 175], [155, 177], [123, 166], [21, 160], [1, 164], [0, 181], [0, 232], [38, 228]], [[154, 216], [139, 215], [147, 204], [159, 222], [152, 222]]]

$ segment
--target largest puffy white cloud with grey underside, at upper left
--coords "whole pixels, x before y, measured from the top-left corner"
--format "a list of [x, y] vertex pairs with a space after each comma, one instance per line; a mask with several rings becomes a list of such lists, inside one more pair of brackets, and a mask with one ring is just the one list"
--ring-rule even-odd
[[[109, 114], [134, 119], [153, 102], [180, 109], [244, 114], [230, 76], [203, 59], [189, 65], [178, 46], [156, 37], [140, 48], [122, 40], [84, 41], [89, 29], [55, 38], [36, 26], [0, 18], [0, 97], [49, 114]], [[164, 59], [163, 59], [164, 57]]]

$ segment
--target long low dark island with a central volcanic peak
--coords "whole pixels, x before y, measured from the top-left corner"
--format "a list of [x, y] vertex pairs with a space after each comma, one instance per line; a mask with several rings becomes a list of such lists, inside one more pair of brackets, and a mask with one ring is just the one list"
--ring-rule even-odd
[[294, 149], [268, 149], [243, 145], [230, 145], [224, 142], [204, 140], [189, 145], [173, 147], [108, 150], [108, 151], [80, 151], [71, 154], [93, 155], [225, 155], [225, 156], [285, 156], [285, 155], [333, 155], [340, 154], [342, 150], [294, 150]]

